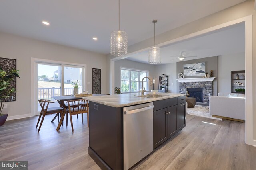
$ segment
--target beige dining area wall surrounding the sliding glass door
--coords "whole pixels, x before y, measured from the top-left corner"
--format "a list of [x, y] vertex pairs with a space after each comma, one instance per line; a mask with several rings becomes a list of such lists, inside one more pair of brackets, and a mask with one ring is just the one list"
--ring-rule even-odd
[[[31, 58], [87, 64], [87, 90], [92, 92], [92, 68], [101, 69], [102, 93], [106, 92], [106, 56], [54, 43], [47, 43], [0, 33], [0, 57], [17, 59], [20, 79], [17, 79], [17, 101], [7, 102], [8, 119], [28, 117], [31, 114]], [[12, 117], [13, 116], [13, 117]]]

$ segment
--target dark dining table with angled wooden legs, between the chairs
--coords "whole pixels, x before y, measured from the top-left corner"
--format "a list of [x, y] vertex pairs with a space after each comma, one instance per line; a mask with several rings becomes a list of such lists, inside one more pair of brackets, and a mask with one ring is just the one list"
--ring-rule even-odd
[[[104, 95], [104, 94], [93, 94], [92, 96], [99, 96], [99, 95]], [[51, 98], [57, 100], [57, 102], [60, 104], [60, 107], [63, 108], [63, 114], [61, 115], [59, 124], [58, 124], [57, 129], [56, 129], [56, 131], [58, 131], [58, 130], [60, 130], [60, 126], [62, 125], [62, 121], [64, 120], [65, 115], [66, 115], [66, 104], [65, 104], [65, 102], [69, 101], [69, 100], [82, 99], [83, 96], [82, 97], [75, 97], [75, 96], [72, 96], [72, 95], [69, 95], [69, 96], [52, 96]]]

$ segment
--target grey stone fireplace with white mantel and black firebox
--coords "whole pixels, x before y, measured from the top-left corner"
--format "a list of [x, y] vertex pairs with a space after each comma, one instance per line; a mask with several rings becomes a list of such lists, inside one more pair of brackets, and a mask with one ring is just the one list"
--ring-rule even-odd
[[178, 82], [180, 83], [179, 91], [180, 93], [183, 93], [183, 94], [187, 94], [187, 91], [188, 91], [188, 94], [190, 94], [190, 97], [196, 98], [196, 102], [209, 103], [209, 98], [210, 96], [213, 95], [212, 82], [214, 78], [215, 77], [177, 79]]

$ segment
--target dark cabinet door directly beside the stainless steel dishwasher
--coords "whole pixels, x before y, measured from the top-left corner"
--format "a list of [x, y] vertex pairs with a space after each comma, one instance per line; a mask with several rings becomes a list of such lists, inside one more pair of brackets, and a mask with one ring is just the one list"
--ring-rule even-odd
[[167, 108], [154, 111], [154, 149], [167, 140]]

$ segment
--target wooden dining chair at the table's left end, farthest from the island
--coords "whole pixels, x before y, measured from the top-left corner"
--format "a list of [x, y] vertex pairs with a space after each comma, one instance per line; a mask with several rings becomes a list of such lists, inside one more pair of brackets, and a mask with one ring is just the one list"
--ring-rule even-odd
[[39, 132], [40, 129], [41, 129], [42, 123], [44, 121], [45, 115], [50, 115], [50, 114], [56, 113], [55, 117], [52, 119], [52, 122], [53, 122], [54, 119], [57, 117], [57, 115], [59, 117], [59, 114], [62, 114], [63, 108], [62, 107], [49, 107], [48, 108], [49, 104], [50, 103], [54, 103], [54, 101], [50, 101], [50, 100], [47, 100], [47, 99], [41, 99], [41, 100], [38, 99], [38, 102], [39, 102], [39, 104], [41, 106], [41, 112], [40, 112], [40, 115], [38, 117], [38, 121], [37, 121], [36, 127], [38, 126], [38, 123], [39, 123], [39, 121], [41, 119], [41, 116], [43, 115], [41, 123], [39, 125], [39, 129], [38, 129], [38, 132]]

